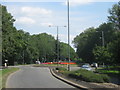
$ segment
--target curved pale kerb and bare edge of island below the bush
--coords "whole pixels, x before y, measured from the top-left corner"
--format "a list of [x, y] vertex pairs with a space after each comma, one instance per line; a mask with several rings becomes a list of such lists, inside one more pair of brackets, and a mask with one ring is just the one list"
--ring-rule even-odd
[[50, 72], [51, 74], [56, 77], [59, 80], [62, 80], [76, 88], [79, 89], [84, 89], [84, 90], [98, 90], [98, 89], [114, 89], [114, 90], [118, 90], [120, 89], [119, 85], [116, 84], [112, 84], [112, 83], [92, 83], [92, 82], [85, 82], [85, 81], [81, 81], [81, 80], [77, 80], [74, 78], [70, 78], [66, 75], [63, 75], [62, 73], [60, 73], [58, 70], [56, 70], [55, 68], [50, 68]]

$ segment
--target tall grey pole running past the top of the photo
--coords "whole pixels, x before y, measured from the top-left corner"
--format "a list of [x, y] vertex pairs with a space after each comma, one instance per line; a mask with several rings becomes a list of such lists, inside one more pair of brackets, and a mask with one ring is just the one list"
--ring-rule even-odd
[[70, 17], [69, 17], [69, 0], [67, 0], [67, 11], [68, 11], [68, 71], [70, 71]]

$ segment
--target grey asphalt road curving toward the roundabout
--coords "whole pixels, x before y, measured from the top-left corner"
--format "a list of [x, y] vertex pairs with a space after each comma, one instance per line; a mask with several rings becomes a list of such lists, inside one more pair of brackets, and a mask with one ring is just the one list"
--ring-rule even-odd
[[47, 67], [20, 66], [8, 77], [7, 88], [74, 88], [55, 77]]

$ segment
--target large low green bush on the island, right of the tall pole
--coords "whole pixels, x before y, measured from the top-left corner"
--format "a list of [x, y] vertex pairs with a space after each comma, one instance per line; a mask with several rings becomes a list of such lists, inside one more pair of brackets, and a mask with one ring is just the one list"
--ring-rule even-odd
[[109, 77], [107, 75], [95, 74], [92, 71], [87, 71], [83, 69], [71, 72], [69, 73], [69, 76], [87, 82], [97, 82], [97, 83], [109, 82]]

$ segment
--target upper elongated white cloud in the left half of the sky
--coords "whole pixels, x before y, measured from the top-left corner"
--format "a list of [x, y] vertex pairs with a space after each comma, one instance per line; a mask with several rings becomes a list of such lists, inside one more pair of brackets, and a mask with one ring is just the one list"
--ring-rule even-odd
[[39, 7], [22, 7], [21, 8], [22, 13], [27, 14], [28, 16], [35, 16], [35, 15], [51, 15], [52, 11], [47, 10], [44, 8]]

